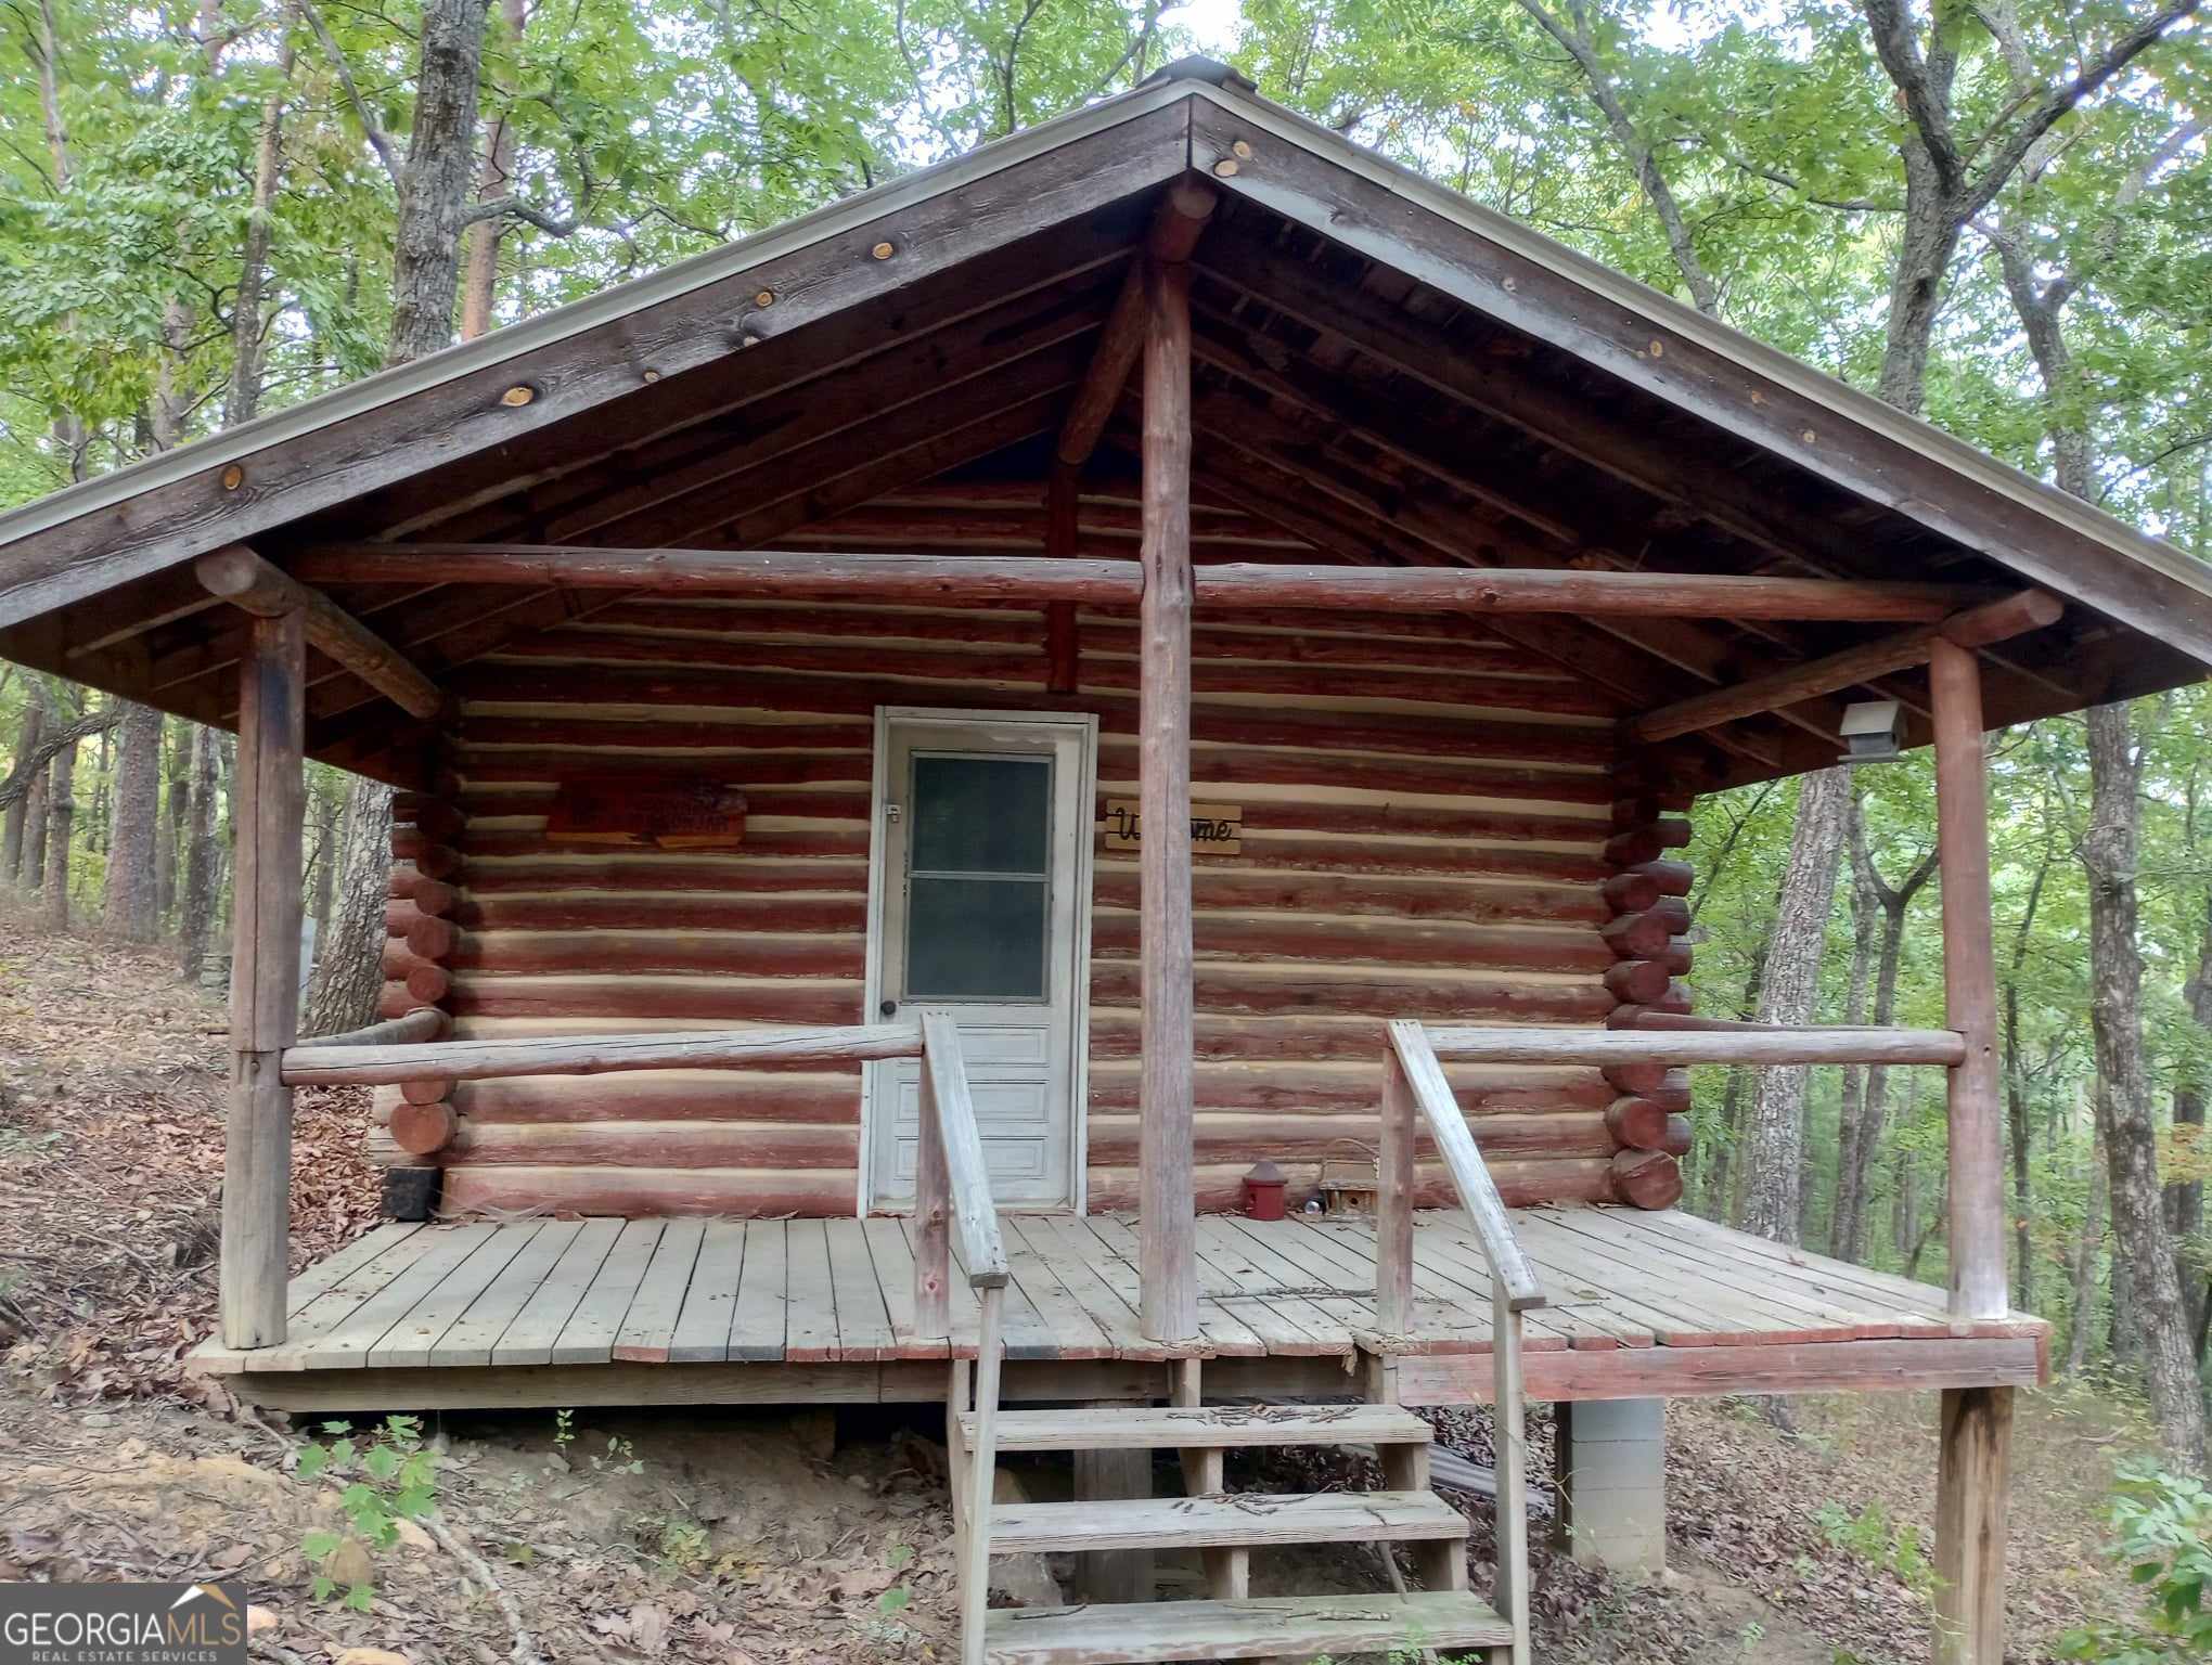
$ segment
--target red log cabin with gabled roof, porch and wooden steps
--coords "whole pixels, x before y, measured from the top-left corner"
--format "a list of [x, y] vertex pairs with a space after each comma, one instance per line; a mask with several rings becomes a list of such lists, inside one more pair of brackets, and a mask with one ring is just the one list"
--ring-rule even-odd
[[[0, 652], [239, 734], [241, 1395], [942, 1400], [1011, 1665], [1520, 1663], [1526, 1400], [1650, 1563], [1666, 1397], [1938, 1391], [1938, 1652], [2002, 1658], [1982, 736], [2205, 674], [2212, 582], [1234, 71], [0, 515]], [[1936, 750], [1947, 1022], [1703, 1019], [1683, 811], [1854, 701]], [[354, 1035], [296, 1024], [303, 756], [398, 789]], [[1840, 1061], [1944, 1070], [1949, 1289], [1674, 1207], [1690, 1066]], [[374, 1088], [398, 1218], [292, 1276], [303, 1083]], [[1221, 1495], [1334, 1442], [1387, 1490]], [[1190, 1497], [993, 1506], [1060, 1448]], [[1250, 1596], [1365, 1539], [1422, 1588]], [[1203, 1601], [984, 1614], [993, 1552], [1172, 1546]]]

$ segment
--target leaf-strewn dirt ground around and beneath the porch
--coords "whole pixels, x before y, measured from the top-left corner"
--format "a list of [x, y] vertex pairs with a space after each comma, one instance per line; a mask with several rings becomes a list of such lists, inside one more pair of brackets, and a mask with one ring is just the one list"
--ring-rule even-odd
[[[254, 1656], [312, 1665], [949, 1656], [942, 1413], [920, 1406], [431, 1417], [436, 1512], [354, 1568], [365, 1612], [316, 1599], [305, 1541], [352, 1528], [345, 1477], [301, 1477], [299, 1457], [334, 1435], [263, 1420], [179, 1366], [215, 1311], [221, 1064], [221, 1015], [166, 953], [49, 938], [0, 904], [0, 1579], [221, 1572], [259, 1610]], [[363, 1114], [356, 1095], [303, 1095], [299, 1263], [374, 1218]], [[1540, 1550], [1540, 1658], [1924, 1661], [1933, 1397], [1801, 1400], [1794, 1415], [1787, 1437], [1747, 1404], [1672, 1404], [1670, 1572], [1610, 1579]], [[1438, 1422], [1489, 1457], [1484, 1413]], [[1542, 1406], [1531, 1424], [1548, 1473]], [[2101, 1499], [2141, 1446], [2117, 1395], [2024, 1395], [2015, 1661], [2126, 1601], [2099, 1557]], [[1064, 1462], [1009, 1475], [1033, 1497], [1068, 1488]], [[1336, 1453], [1230, 1466], [1232, 1488], [1347, 1484], [1374, 1475]], [[1464, 1506], [1480, 1585], [1489, 1504]], [[1018, 1559], [1002, 1583], [1002, 1599], [1055, 1599], [1079, 1570]], [[1261, 1554], [1254, 1588], [1378, 1590], [1385, 1570], [1371, 1546]]]

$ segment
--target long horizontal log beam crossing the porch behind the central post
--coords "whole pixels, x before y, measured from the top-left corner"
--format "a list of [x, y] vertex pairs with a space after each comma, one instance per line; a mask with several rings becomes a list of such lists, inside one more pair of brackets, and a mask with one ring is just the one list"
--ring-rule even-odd
[[[940, 601], [1135, 601], [1139, 562], [1029, 555], [825, 555], [580, 544], [325, 544], [294, 573], [323, 584], [553, 584], [688, 595]], [[1526, 566], [1294, 566], [1228, 562], [1197, 575], [1201, 606], [1371, 612], [1577, 612], [1652, 619], [1936, 624], [1991, 601], [1962, 584], [1551, 570]]]

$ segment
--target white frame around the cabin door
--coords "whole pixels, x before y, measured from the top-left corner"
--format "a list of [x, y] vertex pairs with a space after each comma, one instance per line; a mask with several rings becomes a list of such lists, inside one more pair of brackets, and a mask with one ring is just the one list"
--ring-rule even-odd
[[[1068, 1207], [1086, 1214], [1091, 1205], [1091, 869], [1097, 847], [1097, 796], [1099, 796], [1099, 719], [1091, 712], [978, 712], [953, 705], [878, 705], [874, 763], [869, 767], [867, 792], [867, 968], [863, 975], [860, 1022], [880, 1022], [876, 1008], [883, 1004], [883, 904], [889, 873], [885, 871], [885, 816], [891, 800], [891, 727], [898, 723], [991, 723], [995, 727], [1020, 725], [1075, 739], [1075, 986], [1068, 1013]], [[856, 1183], [856, 1214], [867, 1218], [874, 1205], [874, 1130], [876, 1130], [876, 1081], [880, 1070], [860, 1066], [860, 1174]]]

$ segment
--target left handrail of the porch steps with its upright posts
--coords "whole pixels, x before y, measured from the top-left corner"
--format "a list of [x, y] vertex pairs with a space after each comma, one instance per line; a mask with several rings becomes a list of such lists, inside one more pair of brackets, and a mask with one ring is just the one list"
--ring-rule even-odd
[[[953, 1351], [947, 1404], [947, 1444], [956, 1453], [953, 1517], [960, 1554], [960, 1665], [982, 1665], [984, 1608], [991, 1596], [991, 1499], [998, 1468], [998, 1375], [1006, 1307], [1006, 1245], [991, 1201], [991, 1170], [975, 1125], [960, 1026], [949, 1013], [922, 1013], [922, 1114], [914, 1205], [920, 1223], [914, 1245], [914, 1329], [945, 1336]], [[960, 1400], [969, 1375], [951, 1349], [951, 1238], [975, 1291], [975, 1424], [964, 1473], [960, 1459]], [[964, 1497], [960, 1493], [967, 1493]]]

